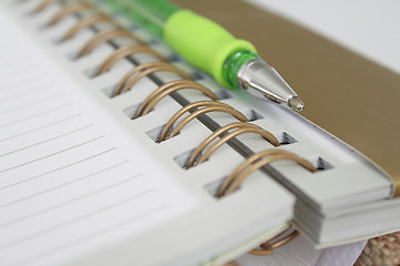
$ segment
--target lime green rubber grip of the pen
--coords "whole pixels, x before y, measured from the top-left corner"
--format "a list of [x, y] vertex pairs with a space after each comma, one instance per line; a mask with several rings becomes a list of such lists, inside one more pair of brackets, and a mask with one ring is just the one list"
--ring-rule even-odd
[[229, 55], [243, 50], [257, 54], [250, 42], [236, 39], [221, 25], [189, 10], [176, 11], [168, 18], [163, 38], [187, 61], [226, 86], [231, 86], [223, 75]]

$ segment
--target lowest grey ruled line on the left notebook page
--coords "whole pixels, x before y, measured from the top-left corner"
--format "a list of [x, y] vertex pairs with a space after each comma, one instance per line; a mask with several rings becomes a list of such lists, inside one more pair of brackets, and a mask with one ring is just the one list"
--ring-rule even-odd
[[110, 226], [107, 226], [104, 228], [98, 229], [98, 231], [96, 231], [96, 232], [93, 232], [91, 234], [88, 234], [86, 236], [78, 237], [77, 239], [67, 242], [67, 243], [64, 243], [62, 245], [59, 245], [57, 247], [52, 247], [52, 248], [50, 248], [48, 250], [38, 253], [36, 255], [29, 256], [27, 258], [20, 259], [18, 262], [14, 262], [14, 263], [11, 263], [11, 264], [4, 265], [4, 266], [20, 266], [20, 265], [24, 265], [24, 264], [28, 264], [28, 263], [38, 262], [38, 260], [43, 259], [43, 258], [46, 258], [48, 256], [52, 256], [52, 255], [54, 255], [57, 253], [60, 253], [60, 252], [63, 252], [63, 250], [66, 250], [68, 248], [76, 247], [76, 246], [81, 245], [81, 244], [83, 244], [86, 242], [89, 242], [91, 239], [96, 239], [98, 237], [107, 235], [108, 233], [111, 233], [113, 231], [117, 231], [117, 229], [120, 229], [122, 227], [129, 226], [132, 223], [139, 222], [139, 221], [141, 221], [143, 218], [147, 218], [148, 216], [154, 215], [154, 214], [166, 209], [169, 206], [170, 206], [170, 204], [163, 204], [163, 205], [150, 208], [150, 209], [148, 209], [146, 212], [132, 215], [127, 219], [120, 221], [120, 222], [118, 222], [118, 223], [116, 223], [113, 225], [110, 225]]

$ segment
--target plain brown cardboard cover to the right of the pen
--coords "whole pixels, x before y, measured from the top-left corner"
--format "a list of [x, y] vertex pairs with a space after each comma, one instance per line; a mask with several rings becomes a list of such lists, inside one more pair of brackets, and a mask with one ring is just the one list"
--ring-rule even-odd
[[370, 157], [399, 183], [399, 74], [240, 0], [173, 2], [252, 42], [301, 96], [303, 116]]

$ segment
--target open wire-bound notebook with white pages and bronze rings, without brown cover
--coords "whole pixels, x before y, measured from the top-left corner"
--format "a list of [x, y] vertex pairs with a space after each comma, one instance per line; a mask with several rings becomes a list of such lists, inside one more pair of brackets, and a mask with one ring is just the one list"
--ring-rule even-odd
[[290, 225], [320, 247], [399, 228], [372, 162], [114, 11], [1, 2], [1, 265], [220, 265]]

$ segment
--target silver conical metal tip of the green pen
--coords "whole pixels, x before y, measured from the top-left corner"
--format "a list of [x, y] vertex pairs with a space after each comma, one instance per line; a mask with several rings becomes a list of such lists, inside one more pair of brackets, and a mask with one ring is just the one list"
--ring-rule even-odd
[[302, 111], [304, 103], [283, 78], [261, 59], [246, 62], [238, 72], [238, 85], [249, 94]]

